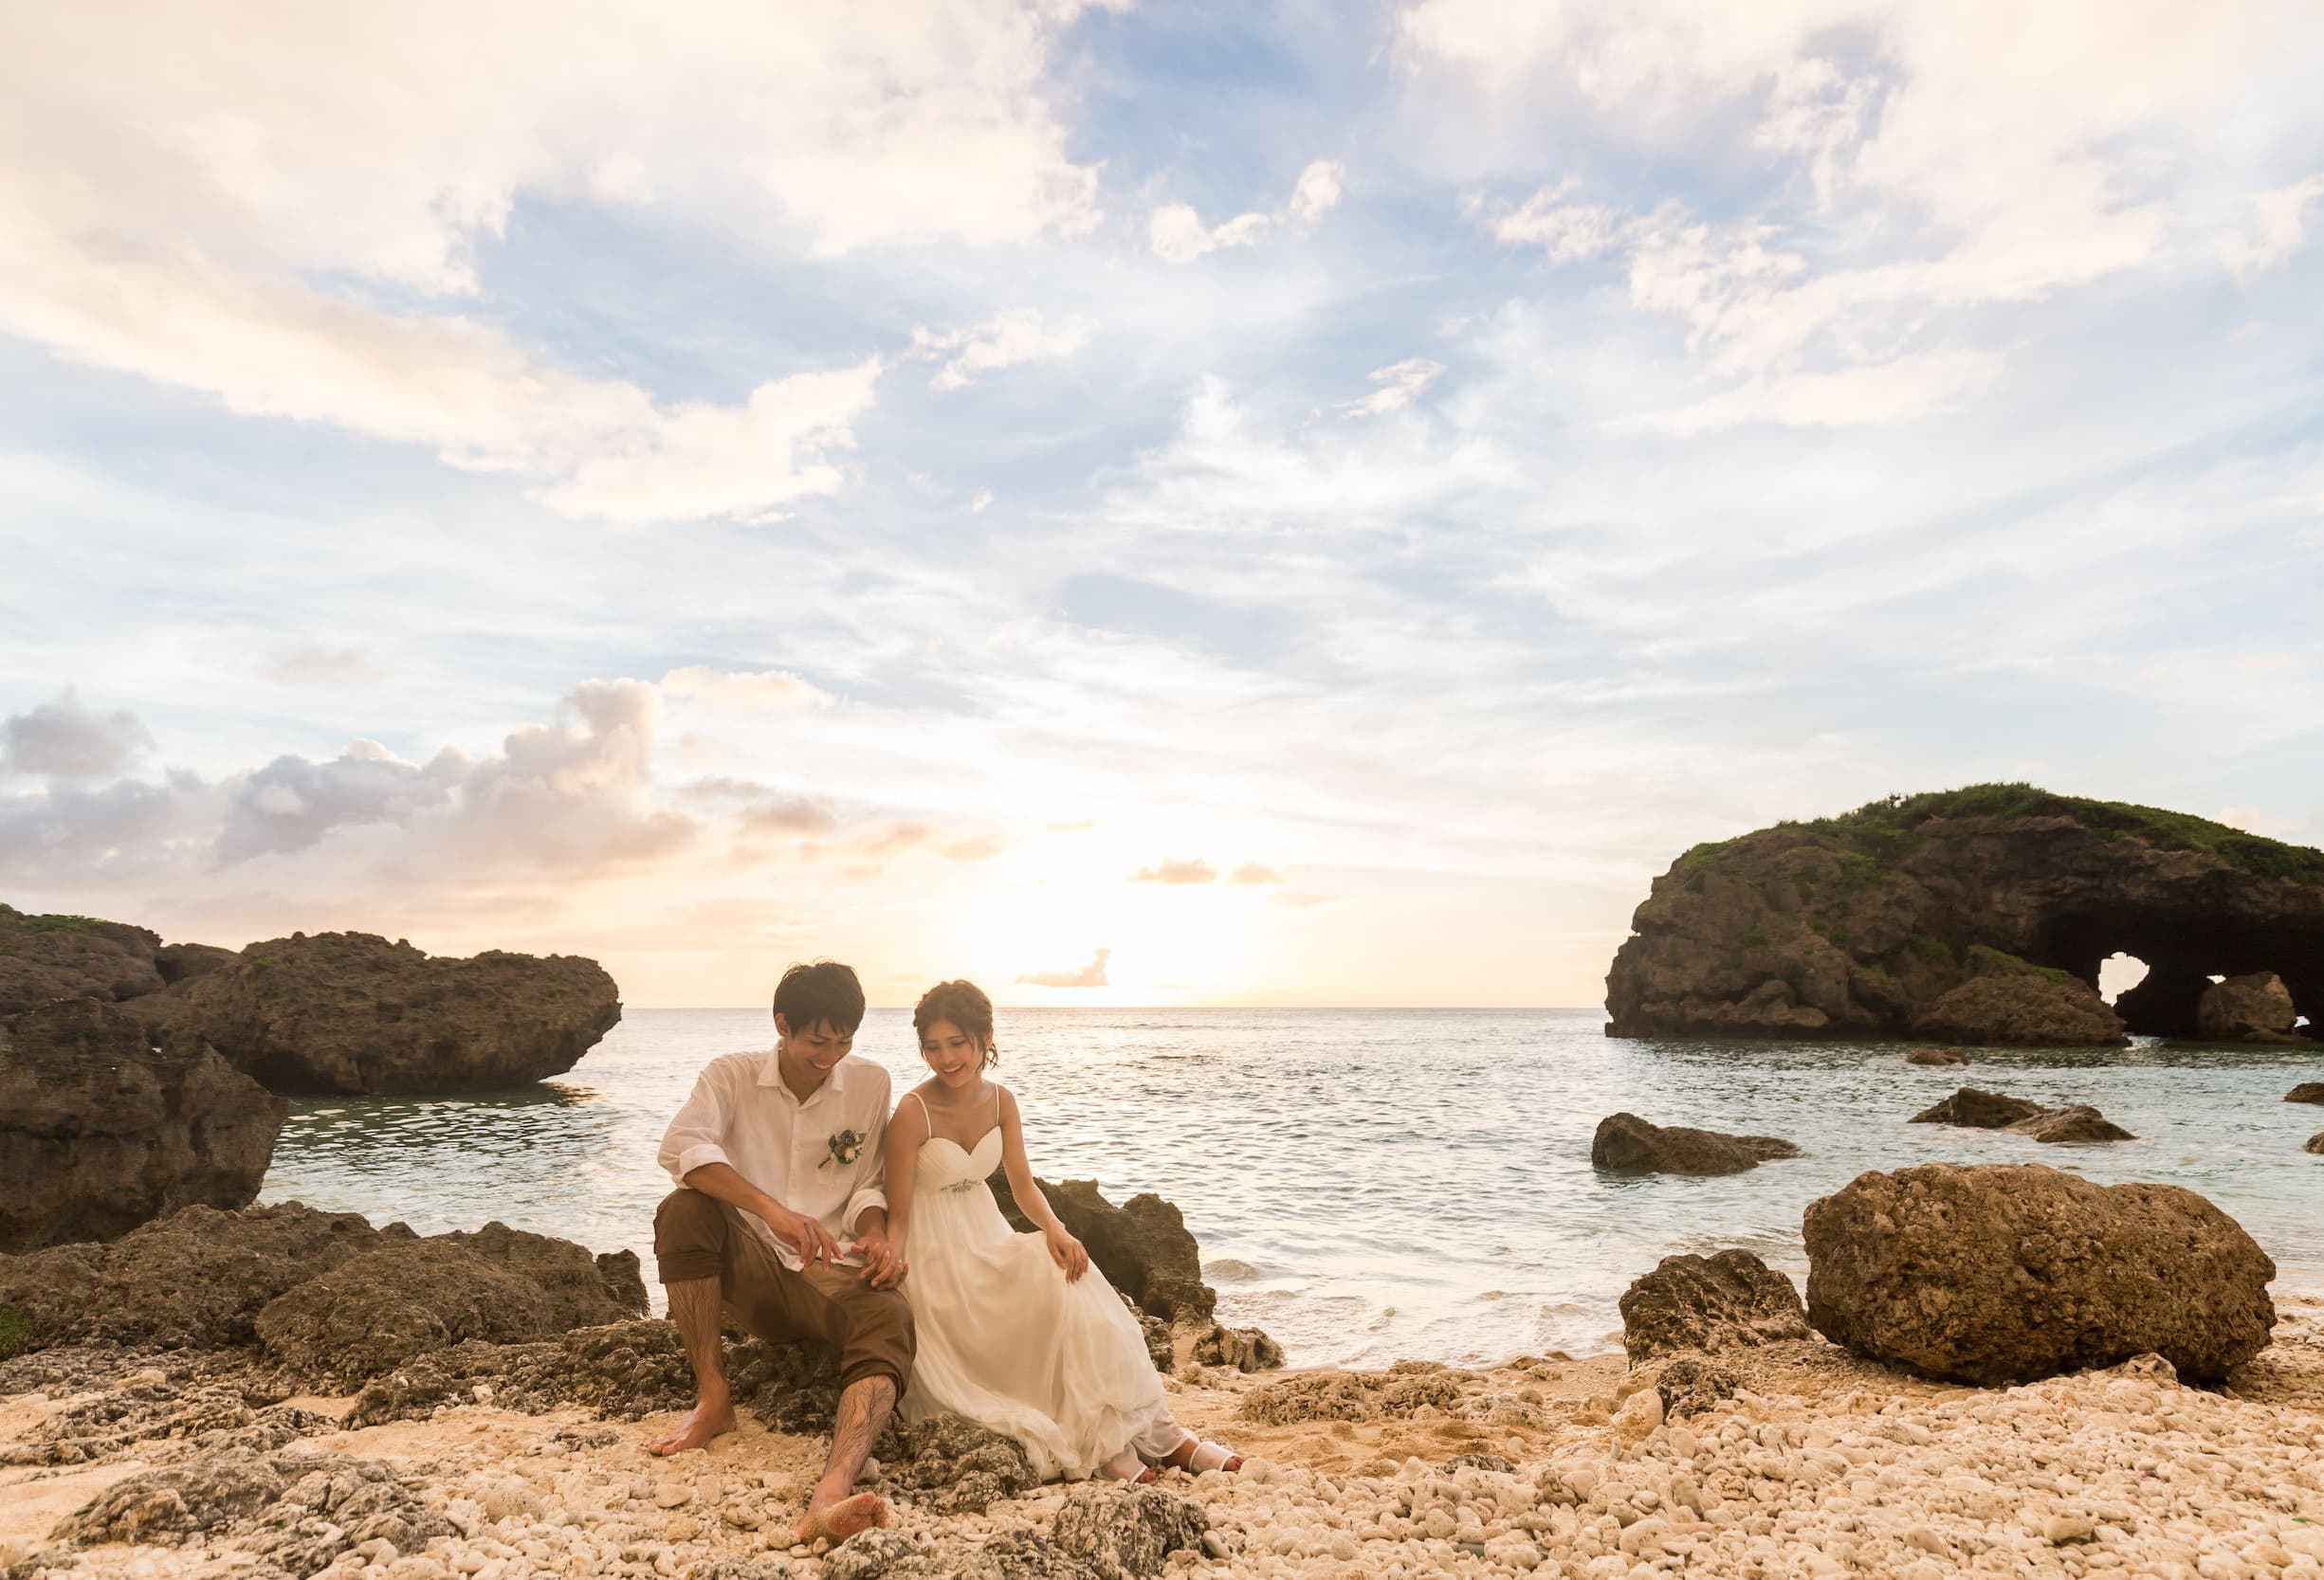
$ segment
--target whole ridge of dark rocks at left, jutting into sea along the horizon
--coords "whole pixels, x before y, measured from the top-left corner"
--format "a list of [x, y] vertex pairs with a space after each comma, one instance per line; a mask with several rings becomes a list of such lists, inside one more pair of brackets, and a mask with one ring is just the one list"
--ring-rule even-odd
[[430, 957], [363, 932], [242, 953], [0, 906], [0, 1020], [56, 997], [191, 1034], [272, 1092], [488, 1092], [572, 1069], [621, 1020], [579, 955]]

